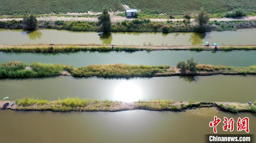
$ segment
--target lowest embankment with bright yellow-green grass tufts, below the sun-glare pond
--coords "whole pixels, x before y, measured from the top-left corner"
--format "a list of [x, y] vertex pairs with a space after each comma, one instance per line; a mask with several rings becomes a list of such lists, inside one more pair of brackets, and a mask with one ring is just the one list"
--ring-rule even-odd
[[1, 109], [12, 110], [51, 110], [51, 111], [124, 111], [124, 110], [152, 110], [152, 111], [186, 111], [201, 107], [215, 107], [222, 111], [256, 112], [256, 101], [249, 106], [246, 103], [230, 102], [174, 102], [173, 100], [148, 100], [138, 102], [117, 102], [85, 100], [79, 98], [66, 98], [55, 101], [47, 101], [35, 98], [18, 99], [14, 106], [4, 107], [10, 101], [0, 101]]

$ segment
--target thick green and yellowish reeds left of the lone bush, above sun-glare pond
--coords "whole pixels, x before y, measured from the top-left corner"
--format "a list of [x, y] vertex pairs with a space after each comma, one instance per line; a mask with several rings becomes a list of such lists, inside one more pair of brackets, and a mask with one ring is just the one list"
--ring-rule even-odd
[[98, 77], [147, 77], [156, 73], [168, 71], [169, 66], [147, 66], [147, 65], [88, 65], [87, 67], [73, 68], [72, 65], [32, 63], [26, 65], [20, 61], [0, 64], [0, 78], [35, 78], [43, 76], [63, 75], [63, 71], [72, 76], [98, 76]]

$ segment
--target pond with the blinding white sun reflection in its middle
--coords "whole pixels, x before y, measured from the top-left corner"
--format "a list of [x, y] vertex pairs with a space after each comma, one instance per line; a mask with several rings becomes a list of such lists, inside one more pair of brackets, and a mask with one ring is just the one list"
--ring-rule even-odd
[[57, 100], [81, 99], [131, 102], [149, 99], [175, 101], [240, 102], [256, 99], [256, 76], [173, 76], [133, 79], [56, 76], [35, 79], [1, 79], [0, 99], [24, 97]]

